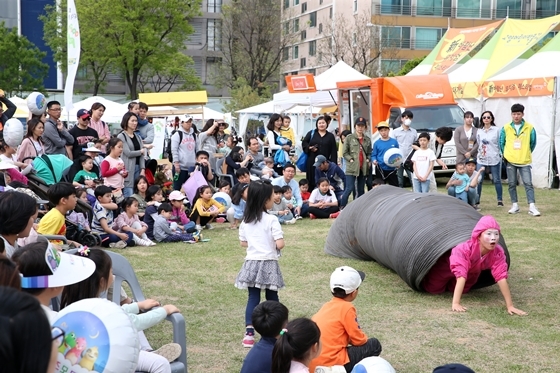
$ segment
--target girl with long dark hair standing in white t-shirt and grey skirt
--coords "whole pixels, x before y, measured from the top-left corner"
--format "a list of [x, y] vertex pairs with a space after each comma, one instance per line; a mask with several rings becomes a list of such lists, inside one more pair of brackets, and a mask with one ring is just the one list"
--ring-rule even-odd
[[266, 212], [274, 203], [272, 185], [253, 181], [247, 191], [243, 222], [239, 226], [239, 241], [247, 248], [245, 262], [235, 279], [235, 287], [247, 289], [249, 298], [245, 309], [245, 336], [243, 347], [253, 347], [255, 330], [251, 321], [253, 310], [261, 301], [278, 302], [278, 290], [284, 287], [284, 278], [278, 265], [280, 250], [284, 248], [284, 234], [275, 216]]

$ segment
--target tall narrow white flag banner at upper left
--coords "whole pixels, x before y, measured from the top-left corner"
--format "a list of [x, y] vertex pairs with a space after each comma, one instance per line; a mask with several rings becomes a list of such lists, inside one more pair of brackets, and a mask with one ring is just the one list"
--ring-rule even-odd
[[80, 24], [78, 23], [78, 12], [74, 0], [68, 0], [68, 73], [66, 85], [64, 86], [64, 107], [67, 112], [72, 110], [74, 103], [74, 80], [80, 63]]

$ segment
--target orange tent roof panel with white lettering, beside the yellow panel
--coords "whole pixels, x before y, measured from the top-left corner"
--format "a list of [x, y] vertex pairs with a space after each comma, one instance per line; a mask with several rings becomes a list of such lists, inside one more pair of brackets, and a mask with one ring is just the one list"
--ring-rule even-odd
[[502, 22], [469, 28], [450, 28], [443, 37], [443, 43], [434, 59], [430, 74], [443, 74], [459, 63]]

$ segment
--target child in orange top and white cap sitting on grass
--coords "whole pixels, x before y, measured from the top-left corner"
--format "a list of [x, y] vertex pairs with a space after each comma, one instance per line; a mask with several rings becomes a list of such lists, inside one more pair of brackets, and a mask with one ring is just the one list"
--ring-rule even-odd
[[338, 267], [331, 274], [333, 298], [311, 318], [321, 330], [323, 348], [319, 357], [311, 361], [310, 372], [318, 366], [333, 365], [343, 365], [351, 372], [360, 360], [381, 353], [381, 343], [376, 338], [368, 339], [360, 328], [352, 304], [365, 277], [365, 273], [347, 266]]

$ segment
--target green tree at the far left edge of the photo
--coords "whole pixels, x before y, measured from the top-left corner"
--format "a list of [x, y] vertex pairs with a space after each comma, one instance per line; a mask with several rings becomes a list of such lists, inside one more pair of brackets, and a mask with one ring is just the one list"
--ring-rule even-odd
[[9, 30], [0, 23], [0, 85], [8, 96], [43, 90], [49, 70], [49, 65], [42, 62], [46, 55], [16, 29]]

